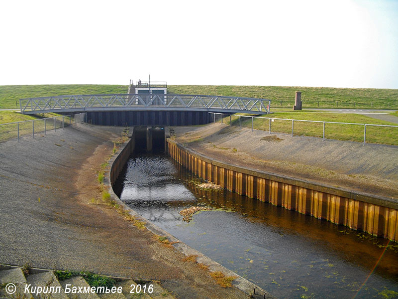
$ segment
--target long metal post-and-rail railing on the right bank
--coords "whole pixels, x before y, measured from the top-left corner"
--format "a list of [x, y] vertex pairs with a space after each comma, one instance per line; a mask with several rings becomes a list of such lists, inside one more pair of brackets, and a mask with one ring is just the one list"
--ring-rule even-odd
[[[327, 121], [310, 121], [281, 119], [271, 117], [244, 116], [244, 115], [225, 115], [223, 113], [210, 112], [209, 122], [229, 123], [230, 126], [239, 126], [260, 129], [263, 131], [289, 133], [291, 136], [307, 135], [321, 137], [325, 141], [328, 139], [361, 141], [363, 145], [367, 142], [367, 134], [372, 130], [371, 143], [398, 145], [398, 126], [377, 125], [377, 124], [359, 124], [359, 123], [340, 123]], [[256, 121], [258, 120], [258, 121]], [[256, 121], [256, 122], [255, 122]], [[302, 124], [312, 124], [311, 126], [302, 126]], [[347, 126], [343, 128], [342, 126]], [[347, 128], [350, 127], [348, 130]], [[373, 130], [373, 129], [376, 129]], [[360, 137], [361, 136], [361, 137]], [[336, 138], [338, 137], [338, 138]]]

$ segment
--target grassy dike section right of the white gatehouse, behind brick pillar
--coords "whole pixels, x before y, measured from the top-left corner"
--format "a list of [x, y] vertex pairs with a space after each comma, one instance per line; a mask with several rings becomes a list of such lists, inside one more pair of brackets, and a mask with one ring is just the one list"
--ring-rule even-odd
[[303, 108], [398, 109], [398, 89], [232, 85], [170, 85], [167, 89], [176, 94], [265, 98], [271, 100], [271, 109], [293, 108], [295, 91], [301, 91]]

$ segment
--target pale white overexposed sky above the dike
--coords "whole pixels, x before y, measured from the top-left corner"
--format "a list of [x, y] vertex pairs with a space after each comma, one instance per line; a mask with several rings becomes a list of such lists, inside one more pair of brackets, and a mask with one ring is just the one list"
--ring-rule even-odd
[[1, 0], [0, 30], [0, 85], [398, 88], [398, 0]]

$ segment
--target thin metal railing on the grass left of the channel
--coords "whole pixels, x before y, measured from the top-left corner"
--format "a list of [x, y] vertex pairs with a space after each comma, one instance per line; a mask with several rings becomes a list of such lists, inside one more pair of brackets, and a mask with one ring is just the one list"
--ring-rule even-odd
[[0, 124], [0, 142], [10, 139], [16, 139], [19, 142], [20, 138], [26, 135], [31, 135], [32, 138], [35, 138], [37, 134], [46, 135], [48, 131], [56, 132], [59, 129], [86, 122], [86, 117], [86, 113], [78, 113], [74, 116], [63, 115]]

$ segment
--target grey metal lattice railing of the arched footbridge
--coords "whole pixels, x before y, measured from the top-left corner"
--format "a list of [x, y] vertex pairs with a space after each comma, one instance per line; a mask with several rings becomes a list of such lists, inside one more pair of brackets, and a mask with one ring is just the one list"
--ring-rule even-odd
[[164, 108], [266, 114], [270, 111], [270, 102], [266, 99], [205, 95], [103, 94], [28, 98], [19, 100], [19, 105], [22, 113]]

